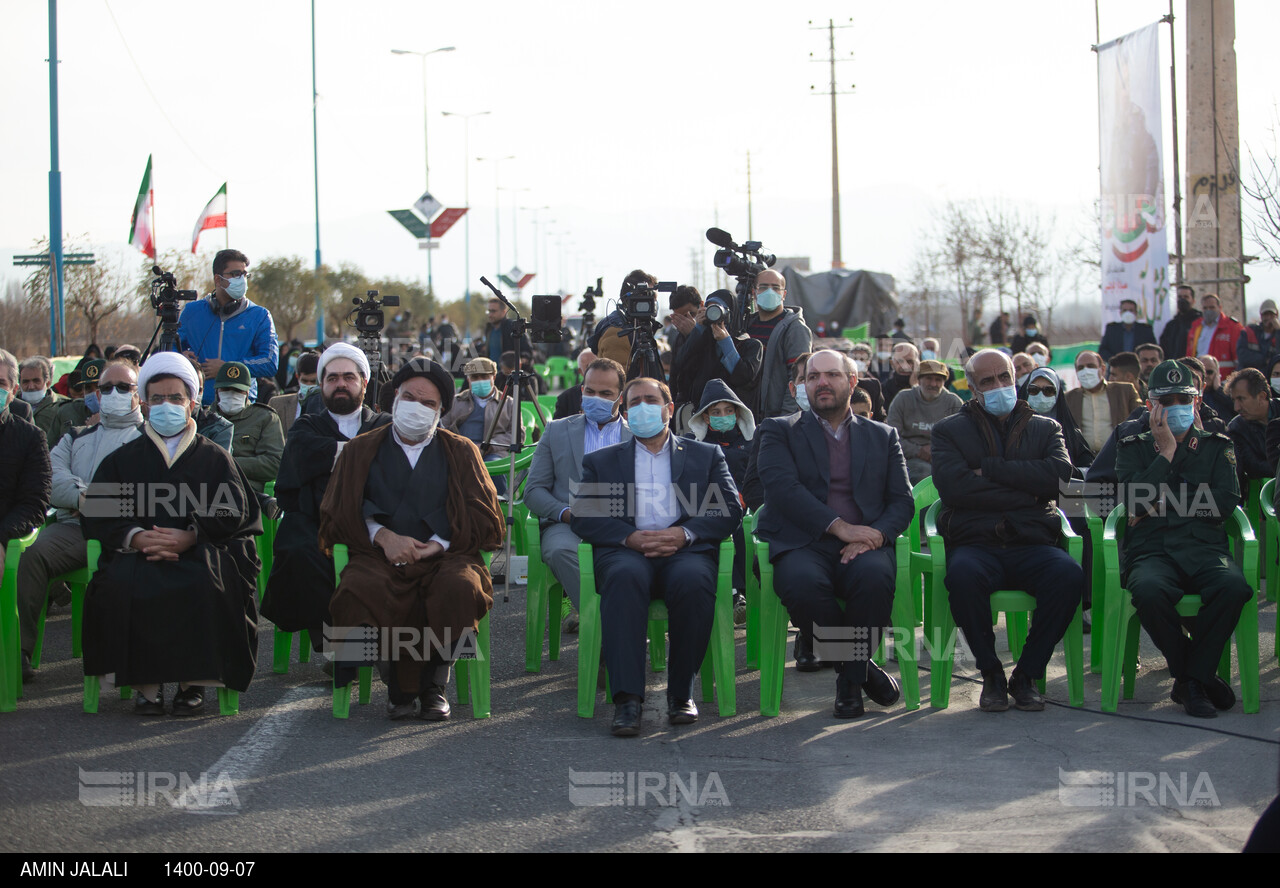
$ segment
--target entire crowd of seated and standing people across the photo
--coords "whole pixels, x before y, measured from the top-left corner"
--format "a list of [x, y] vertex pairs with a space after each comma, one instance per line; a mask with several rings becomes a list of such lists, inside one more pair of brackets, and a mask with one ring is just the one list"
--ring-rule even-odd
[[[745, 618], [749, 511], [797, 627], [795, 668], [832, 668], [832, 711], [856, 718], [864, 696], [879, 706], [900, 699], [872, 653], [890, 623], [893, 544], [918, 518], [913, 489], [928, 480], [941, 499], [951, 610], [983, 676], [979, 706], [1038, 710], [1037, 682], [1091, 601], [1088, 564], [1060, 546], [1059, 502], [1084, 479], [1201, 494], [1194, 513], [1162, 496], [1120, 500], [1125, 582], [1169, 662], [1172, 699], [1206, 718], [1234, 705], [1215, 665], [1252, 590], [1229, 558], [1224, 517], [1249, 482], [1276, 473], [1271, 301], [1245, 326], [1216, 296], [1196, 311], [1194, 292], [1179, 288], [1161, 342], [1126, 303], [1064, 377], [1034, 316], [1018, 330], [997, 319], [991, 339], [1007, 347], [966, 352], [961, 366], [940, 340], [911, 339], [901, 319], [873, 343], [819, 340], [773, 270], [756, 278], [737, 333], [727, 322], [737, 296], [681, 287], [669, 297], [662, 377], [632, 361], [626, 319], [605, 315], [582, 330], [582, 348], [561, 345], [580, 381], [539, 424], [527, 475], [495, 485], [485, 463], [525, 444], [509, 383], [535, 360], [502, 302], [489, 302], [472, 343], [433, 319], [420, 353], [388, 356], [379, 377], [344, 342], [282, 349], [270, 312], [247, 296], [250, 279], [247, 257], [219, 252], [212, 290], [182, 315], [177, 352], [142, 360], [119, 345], [54, 380], [49, 358], [0, 351], [0, 544], [40, 528], [18, 569], [24, 681], [46, 600], [65, 600], [58, 578], [83, 568], [96, 540], [86, 674], [132, 686], [143, 715], [200, 713], [207, 687], [246, 690], [256, 543], [264, 516], [280, 514], [261, 614], [308, 631], [339, 686], [380, 664], [389, 718], [445, 719], [451, 669], [493, 604], [484, 553], [503, 543], [503, 498], [522, 494], [572, 604], [570, 631], [579, 544], [593, 546], [612, 733], [640, 732], [654, 596], [669, 615], [667, 718], [699, 718], [692, 683], [726, 539], [736, 543], [735, 618]], [[657, 279], [635, 270], [623, 290], [637, 284]], [[545, 394], [536, 374], [524, 385], [521, 399]], [[337, 545], [349, 560], [334, 586]], [[1001, 589], [1037, 603], [1009, 674], [989, 610]], [[1184, 591], [1204, 599], [1192, 635], [1175, 610]], [[383, 640], [353, 656], [344, 642], [370, 628], [412, 630], [424, 644], [389, 650]], [[817, 642], [833, 631], [859, 644], [832, 656]], [[168, 709], [165, 685], [175, 686]]]

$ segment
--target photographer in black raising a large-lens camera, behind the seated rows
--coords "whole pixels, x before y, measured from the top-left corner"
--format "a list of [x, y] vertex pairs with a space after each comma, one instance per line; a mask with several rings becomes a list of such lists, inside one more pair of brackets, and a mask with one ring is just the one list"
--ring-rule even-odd
[[745, 333], [732, 335], [728, 331], [732, 317], [733, 294], [716, 290], [694, 316], [690, 333], [676, 352], [671, 384], [677, 429], [689, 427], [687, 417], [698, 409], [703, 389], [713, 379], [726, 383], [742, 400], [748, 400], [756, 388], [764, 348]]

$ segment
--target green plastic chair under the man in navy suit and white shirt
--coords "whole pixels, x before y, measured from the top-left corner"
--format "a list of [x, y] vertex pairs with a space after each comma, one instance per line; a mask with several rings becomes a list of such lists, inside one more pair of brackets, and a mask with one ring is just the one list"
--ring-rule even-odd
[[[595, 589], [595, 560], [590, 543], [577, 546], [581, 576], [577, 627], [577, 714], [595, 717], [595, 696], [600, 668], [600, 594]], [[737, 686], [733, 676], [733, 540], [721, 541], [716, 582], [716, 617], [712, 637], [703, 659], [703, 702], [714, 697], [719, 714], [737, 714]], [[649, 664], [654, 672], [667, 668], [667, 605], [660, 600], [649, 604]], [[605, 682], [605, 696], [608, 682]]]

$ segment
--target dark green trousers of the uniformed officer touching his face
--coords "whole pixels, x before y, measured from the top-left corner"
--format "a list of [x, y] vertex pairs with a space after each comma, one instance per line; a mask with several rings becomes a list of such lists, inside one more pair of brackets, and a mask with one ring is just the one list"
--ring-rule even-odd
[[[1184, 569], [1169, 555], [1142, 555], [1129, 566], [1126, 587], [1142, 627], [1169, 662], [1169, 674], [1201, 682], [1213, 677], [1240, 610], [1253, 595], [1239, 566], [1212, 554], [1194, 571]], [[1192, 638], [1183, 632], [1176, 610], [1184, 592], [1199, 595], [1203, 601]]]

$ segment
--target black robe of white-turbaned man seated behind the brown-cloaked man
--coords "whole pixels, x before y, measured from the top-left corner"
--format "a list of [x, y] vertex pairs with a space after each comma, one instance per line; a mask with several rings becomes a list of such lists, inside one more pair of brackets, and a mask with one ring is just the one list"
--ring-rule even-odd
[[[360, 434], [392, 421], [361, 408]], [[275, 499], [284, 511], [275, 528], [271, 576], [262, 595], [262, 615], [285, 632], [306, 630], [320, 649], [333, 596], [333, 558], [320, 549], [320, 503], [324, 502], [342, 434], [328, 411], [303, 413], [289, 427], [275, 477]]]

